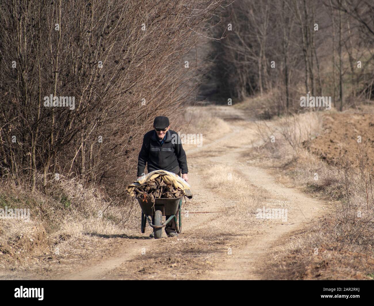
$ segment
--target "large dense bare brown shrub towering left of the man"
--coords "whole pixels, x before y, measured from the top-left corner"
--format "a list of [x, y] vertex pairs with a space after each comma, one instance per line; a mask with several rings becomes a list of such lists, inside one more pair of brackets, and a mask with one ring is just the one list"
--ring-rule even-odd
[[[219, 5], [3, 1], [0, 174], [33, 189], [40, 172], [43, 188], [48, 173], [78, 176], [123, 196], [155, 115], [174, 118], [190, 98], [191, 51]], [[50, 96], [74, 97], [74, 108], [46, 105]]]

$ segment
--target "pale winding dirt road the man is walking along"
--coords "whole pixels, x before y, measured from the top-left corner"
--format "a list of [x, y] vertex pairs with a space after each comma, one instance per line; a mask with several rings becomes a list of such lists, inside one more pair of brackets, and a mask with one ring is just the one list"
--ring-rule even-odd
[[[261, 279], [268, 254], [282, 247], [292, 232], [322, 214], [326, 203], [287, 188], [263, 168], [248, 160], [248, 150], [256, 143], [254, 126], [242, 114], [224, 118], [232, 131], [200, 148], [186, 149], [190, 184], [194, 198], [183, 210], [183, 234], [178, 238], [148, 239], [146, 234], [125, 237], [116, 255], [88, 263], [80, 271], [59, 276], [62, 279]], [[234, 119], [234, 120], [233, 120]], [[211, 224], [224, 226], [234, 220], [223, 218], [236, 209], [240, 198], [209, 184], [208, 169], [230, 169], [230, 182], [240, 177], [248, 188], [256, 186], [265, 197], [254, 212], [243, 216], [245, 226], [238, 232], [221, 228], [214, 236]], [[252, 188], [253, 189], [253, 188]], [[287, 220], [256, 218], [256, 209], [281, 208]], [[199, 213], [209, 211], [212, 213]], [[222, 220], [222, 222], [220, 221]], [[223, 233], [223, 234], [222, 234]], [[164, 233], [165, 236], [165, 233]], [[224, 238], [223, 238], [224, 237]]]

